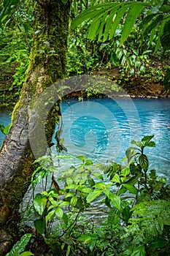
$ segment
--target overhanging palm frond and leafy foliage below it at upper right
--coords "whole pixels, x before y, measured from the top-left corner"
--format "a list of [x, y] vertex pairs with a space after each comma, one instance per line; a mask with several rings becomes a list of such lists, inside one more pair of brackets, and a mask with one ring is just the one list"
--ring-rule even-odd
[[[136, 76], [136, 74], [144, 74], [147, 67], [145, 62], [148, 61], [146, 53], [150, 53], [150, 48], [152, 48], [153, 53], [158, 52], [161, 45], [164, 51], [169, 50], [169, 14], [169, 1], [104, 3], [92, 6], [77, 15], [72, 21], [72, 28], [76, 28], [82, 23], [84, 26], [85, 21], [88, 20], [89, 22], [90, 20], [88, 38], [97, 38], [98, 41], [107, 42], [107, 45], [108, 40], [111, 41], [116, 37], [117, 31], [119, 31], [120, 38], [115, 43], [116, 50], [112, 51], [110, 60], [114, 65], [117, 65], [118, 61], [121, 61], [123, 67], [128, 64], [128, 74], [126, 76]], [[144, 49], [147, 42], [147, 49], [142, 50], [142, 54], [138, 53], [136, 55], [136, 48], [134, 48], [135, 53], [130, 55], [127, 45], [133, 38], [134, 30], [136, 31], [136, 40], [139, 40], [137, 48]], [[131, 37], [129, 37], [130, 34]], [[127, 38], [128, 42], [125, 42]], [[164, 78], [164, 84], [168, 90], [169, 72]]]

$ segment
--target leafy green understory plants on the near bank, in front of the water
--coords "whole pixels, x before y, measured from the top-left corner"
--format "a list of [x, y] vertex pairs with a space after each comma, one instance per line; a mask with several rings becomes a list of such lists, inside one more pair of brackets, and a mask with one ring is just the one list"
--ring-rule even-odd
[[[71, 156], [36, 160], [33, 204], [23, 221], [34, 222], [51, 255], [168, 255], [170, 187], [149, 169], [144, 151], [155, 147], [152, 138], [132, 140], [121, 164], [79, 156], [80, 164], [61, 173], [54, 163]], [[39, 183], [43, 191], [35, 192]]]

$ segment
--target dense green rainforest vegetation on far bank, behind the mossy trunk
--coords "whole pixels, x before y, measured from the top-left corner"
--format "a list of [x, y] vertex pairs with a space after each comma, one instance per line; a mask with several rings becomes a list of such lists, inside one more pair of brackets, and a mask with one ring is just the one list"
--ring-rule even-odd
[[[74, 19], [77, 13], [86, 10], [90, 5], [95, 6], [103, 2], [92, 1], [90, 4], [86, 1], [74, 2], [71, 18]], [[154, 14], [151, 14], [151, 18], [152, 15]], [[159, 12], [157, 16], [156, 22], [150, 24], [145, 31], [145, 37], [142, 37], [139, 25], [144, 17], [143, 14], [136, 20], [130, 37], [123, 45], [120, 45], [123, 22], [118, 24], [112, 38], [105, 37], [99, 40], [95, 37], [95, 32], [93, 36], [90, 34], [88, 37], [90, 21], [83, 23], [77, 29], [70, 28], [67, 54], [69, 75], [93, 73], [104, 75], [127, 88], [132, 95], [165, 97], [167, 92], [162, 84], [165, 73], [169, 70], [169, 49], [167, 45], [166, 49], [158, 45], [161, 23]], [[9, 23], [3, 23], [1, 26], [1, 108], [13, 106], [18, 101], [28, 69], [34, 34], [33, 23], [34, 4], [23, 3]], [[152, 31], [151, 37], [150, 31]]]

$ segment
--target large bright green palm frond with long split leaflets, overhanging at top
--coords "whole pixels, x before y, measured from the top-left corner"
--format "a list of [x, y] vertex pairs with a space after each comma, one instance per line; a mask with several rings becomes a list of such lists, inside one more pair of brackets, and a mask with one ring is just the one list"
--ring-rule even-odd
[[88, 8], [88, 10], [80, 13], [80, 15], [77, 15], [72, 22], [72, 28], [75, 29], [85, 20], [92, 20], [88, 33], [90, 39], [95, 39], [97, 35], [98, 40], [101, 39], [101, 37], [103, 37], [103, 41], [106, 41], [108, 37], [112, 39], [117, 26], [124, 18], [125, 12], [130, 8], [125, 18], [125, 25], [120, 42], [120, 44], [123, 44], [131, 33], [136, 19], [139, 17], [144, 7], [148, 6], [150, 7], [150, 4], [138, 1], [98, 4], [95, 7]]

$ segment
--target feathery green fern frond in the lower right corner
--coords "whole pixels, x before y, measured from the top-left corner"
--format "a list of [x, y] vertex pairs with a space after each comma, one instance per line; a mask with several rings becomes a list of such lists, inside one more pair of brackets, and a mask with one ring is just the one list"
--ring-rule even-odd
[[142, 237], [144, 243], [161, 236], [165, 225], [170, 226], [170, 202], [167, 200], [142, 202], [131, 211], [128, 231], [134, 233], [135, 230], [136, 238]]

